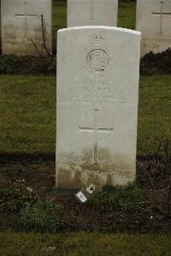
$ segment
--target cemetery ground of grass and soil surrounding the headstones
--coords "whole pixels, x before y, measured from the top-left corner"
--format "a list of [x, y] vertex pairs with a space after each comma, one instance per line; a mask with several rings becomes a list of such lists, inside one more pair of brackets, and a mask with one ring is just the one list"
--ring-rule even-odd
[[[134, 28], [134, 24], [135, 3], [120, 3], [119, 27]], [[54, 1], [54, 53], [56, 27], [66, 27], [66, 6]], [[161, 55], [160, 61], [155, 57], [154, 62], [142, 63], [141, 74], [155, 75], [140, 77], [136, 183], [126, 190], [105, 188], [86, 205], [80, 205], [74, 196], [56, 196], [52, 191], [56, 77], [0, 77], [0, 255], [170, 254], [168, 56], [163, 63]], [[157, 69], [156, 65], [161, 66]], [[17, 67], [18, 63], [9, 66], [8, 73], [19, 70]], [[37, 63], [32, 70], [35, 68]], [[35, 73], [24, 69], [22, 74], [46, 74], [45, 68]], [[55, 74], [54, 70], [52, 66], [50, 72]]]

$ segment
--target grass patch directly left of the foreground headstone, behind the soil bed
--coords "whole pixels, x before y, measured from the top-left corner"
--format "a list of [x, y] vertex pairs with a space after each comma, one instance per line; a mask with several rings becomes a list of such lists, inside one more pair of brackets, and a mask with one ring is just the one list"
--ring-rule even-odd
[[56, 78], [1, 76], [0, 152], [54, 152]]

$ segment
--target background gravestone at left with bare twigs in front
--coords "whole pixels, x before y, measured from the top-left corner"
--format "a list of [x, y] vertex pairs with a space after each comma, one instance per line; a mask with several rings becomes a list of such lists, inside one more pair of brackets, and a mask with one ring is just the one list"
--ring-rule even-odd
[[51, 51], [51, 0], [1, 0], [3, 54], [37, 55], [38, 51], [41, 52], [42, 14], [45, 21], [46, 45]]

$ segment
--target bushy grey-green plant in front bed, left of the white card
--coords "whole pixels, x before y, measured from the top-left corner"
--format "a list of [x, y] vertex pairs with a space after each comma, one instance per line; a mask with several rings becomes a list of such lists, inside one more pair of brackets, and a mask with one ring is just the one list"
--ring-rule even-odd
[[61, 205], [39, 200], [21, 210], [20, 227], [25, 232], [55, 233], [65, 228], [67, 213]]

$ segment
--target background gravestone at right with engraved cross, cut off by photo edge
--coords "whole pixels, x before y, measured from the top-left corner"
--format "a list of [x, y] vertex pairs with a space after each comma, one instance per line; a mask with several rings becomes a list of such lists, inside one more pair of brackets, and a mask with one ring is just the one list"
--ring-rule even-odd
[[171, 47], [171, 0], [137, 0], [136, 29], [142, 32], [141, 56]]

